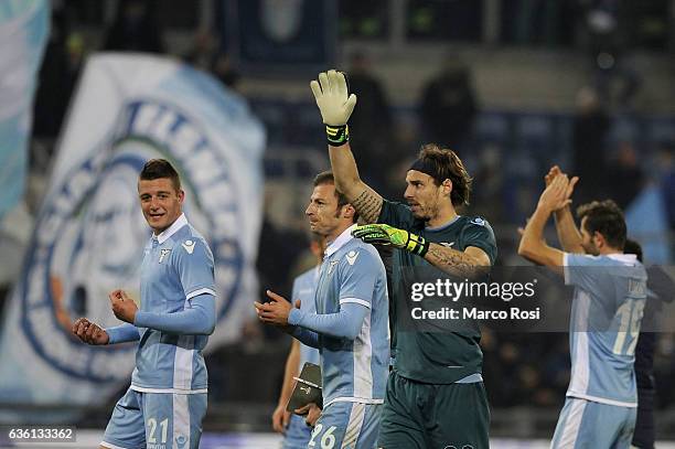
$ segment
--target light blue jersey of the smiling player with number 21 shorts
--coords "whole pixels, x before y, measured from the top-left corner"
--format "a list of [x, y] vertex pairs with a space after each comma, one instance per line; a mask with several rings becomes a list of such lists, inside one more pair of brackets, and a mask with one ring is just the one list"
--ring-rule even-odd
[[[215, 297], [213, 254], [184, 215], [146, 246], [140, 286], [139, 312], [171, 314], [190, 308], [192, 298]], [[202, 351], [207, 335], [147, 328], [139, 332], [131, 389], [206, 393], [207, 374]]]

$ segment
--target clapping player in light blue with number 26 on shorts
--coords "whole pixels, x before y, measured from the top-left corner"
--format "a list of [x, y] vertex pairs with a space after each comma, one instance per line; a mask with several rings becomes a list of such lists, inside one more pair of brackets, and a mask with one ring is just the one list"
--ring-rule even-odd
[[335, 190], [331, 172], [314, 179], [306, 214], [328, 245], [317, 313], [293, 309], [269, 290], [270, 302], [255, 306], [262, 322], [285, 327], [321, 353], [323, 411], [308, 447], [372, 449], [389, 366], [385, 267], [372, 245], [352, 237], [357, 214]]

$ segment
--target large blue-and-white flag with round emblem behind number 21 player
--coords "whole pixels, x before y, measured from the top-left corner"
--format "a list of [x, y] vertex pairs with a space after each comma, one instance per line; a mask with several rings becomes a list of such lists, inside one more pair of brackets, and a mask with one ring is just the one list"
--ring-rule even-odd
[[99, 404], [128, 382], [135, 345], [88, 346], [69, 329], [78, 317], [119, 324], [113, 289], [140, 297], [151, 229], [137, 181], [151, 158], [176, 168], [185, 215], [213, 249], [218, 323], [208, 348], [236, 339], [257, 293], [264, 147], [247, 103], [211, 76], [147, 55], [90, 57], [4, 314], [0, 403]]

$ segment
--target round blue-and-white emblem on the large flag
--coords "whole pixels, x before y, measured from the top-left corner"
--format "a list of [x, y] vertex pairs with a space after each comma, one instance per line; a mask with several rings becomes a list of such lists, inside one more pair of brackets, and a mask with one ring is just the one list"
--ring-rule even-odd
[[[233, 189], [232, 168], [196, 119], [180, 106], [132, 99], [120, 110], [115, 133], [93, 148], [53, 186], [35, 223], [18, 285], [20, 322], [34, 352], [69, 376], [108, 385], [126, 379], [135, 346], [106, 351], [76, 342], [72, 322], [85, 314], [103, 328], [115, 325], [108, 293], [121, 288], [140, 297], [140, 257], [151, 235], [138, 204], [138, 173], [147, 160], [170, 159], [184, 180], [191, 224], [213, 248], [218, 291], [217, 319], [228, 311], [245, 268], [237, 229], [244, 210]], [[194, 240], [182, 243], [192, 254]], [[115, 250], [109, 250], [115, 248]], [[162, 249], [163, 263], [171, 249]]]

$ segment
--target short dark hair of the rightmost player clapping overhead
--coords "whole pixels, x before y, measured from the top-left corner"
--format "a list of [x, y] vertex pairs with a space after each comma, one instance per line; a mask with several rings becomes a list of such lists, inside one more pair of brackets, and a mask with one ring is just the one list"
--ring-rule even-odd
[[626, 226], [623, 211], [612, 200], [592, 201], [577, 207], [579, 220], [586, 217], [586, 231], [600, 233], [613, 248], [623, 250]]

